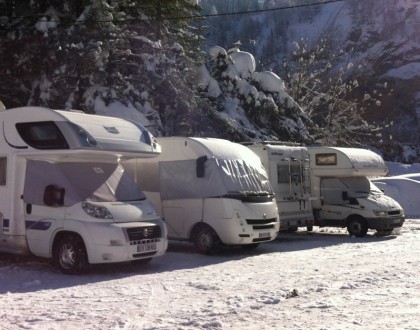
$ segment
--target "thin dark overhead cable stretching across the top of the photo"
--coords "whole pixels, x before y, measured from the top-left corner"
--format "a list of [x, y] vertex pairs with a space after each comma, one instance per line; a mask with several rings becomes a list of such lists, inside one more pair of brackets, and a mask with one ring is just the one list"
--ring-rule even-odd
[[[217, 13], [217, 14], [203, 14], [203, 15], [186, 15], [186, 16], [173, 16], [173, 17], [165, 17], [165, 20], [179, 20], [179, 19], [195, 19], [195, 18], [211, 18], [211, 17], [223, 17], [223, 16], [237, 16], [237, 15], [250, 15], [250, 14], [259, 14], [259, 13], [265, 13], [265, 12], [273, 12], [273, 11], [279, 11], [279, 10], [286, 10], [286, 9], [295, 9], [295, 8], [303, 8], [303, 7], [312, 7], [312, 6], [320, 6], [335, 2], [343, 2], [345, 0], [325, 0], [321, 2], [312, 2], [312, 3], [305, 3], [305, 4], [298, 4], [298, 5], [292, 5], [292, 6], [284, 6], [284, 7], [275, 7], [275, 8], [266, 8], [266, 9], [257, 9], [257, 10], [247, 10], [247, 11], [239, 11], [239, 12], [229, 12], [229, 13]], [[22, 15], [18, 17], [13, 17], [13, 19], [25, 19], [25, 18], [41, 18], [45, 17], [46, 15]], [[0, 16], [0, 22], [1, 21], [7, 21], [8, 18], [3, 16]], [[78, 22], [78, 23], [84, 23], [84, 22], [96, 22], [96, 23], [124, 23], [124, 22], [131, 22], [131, 21], [140, 21], [144, 20], [142, 18], [125, 18], [125, 19], [119, 19], [119, 20], [92, 20], [92, 19], [85, 19], [85, 20], [79, 20], [79, 19], [69, 19], [64, 18], [61, 20], [48, 20], [48, 22], [62, 22], [62, 21], [71, 21], [71, 22]], [[151, 21], [158, 21], [162, 20], [161, 18], [153, 18], [148, 17], [148, 20]]]

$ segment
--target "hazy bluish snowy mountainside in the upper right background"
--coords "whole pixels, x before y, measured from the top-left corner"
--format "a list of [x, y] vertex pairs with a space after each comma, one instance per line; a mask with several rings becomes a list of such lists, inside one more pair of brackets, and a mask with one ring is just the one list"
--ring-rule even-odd
[[[207, 1], [202, 3], [208, 8]], [[229, 3], [231, 10], [246, 11], [238, 1]], [[308, 2], [289, 1], [290, 9], [280, 0], [260, 3], [265, 10], [261, 13], [238, 15], [234, 20], [211, 18], [209, 46], [239, 42], [241, 50], [254, 54], [257, 65], [283, 79], [287, 77], [284, 59], [293, 61], [291, 54], [309, 54], [322, 47], [332, 64], [325, 82], [338, 79], [338, 72], [344, 69], [347, 77], [357, 79], [357, 94], [377, 96], [379, 101], [366, 108], [366, 118], [384, 127], [384, 156], [418, 161], [419, 2], [346, 0], [300, 6]], [[213, 12], [217, 10], [227, 8], [214, 5]], [[300, 106], [307, 104], [304, 101]], [[402, 148], [410, 149], [411, 156], [404, 159]]]

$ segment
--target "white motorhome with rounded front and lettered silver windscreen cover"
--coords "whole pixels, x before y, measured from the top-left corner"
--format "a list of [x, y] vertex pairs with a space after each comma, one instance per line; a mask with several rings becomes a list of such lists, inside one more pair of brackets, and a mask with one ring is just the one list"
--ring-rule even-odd
[[[168, 226], [168, 237], [201, 253], [221, 244], [256, 247], [279, 231], [276, 201], [259, 158], [215, 138], [156, 138], [162, 153], [124, 166]], [[147, 175], [141, 175], [147, 173]], [[134, 175], [136, 176], [136, 175]]]

